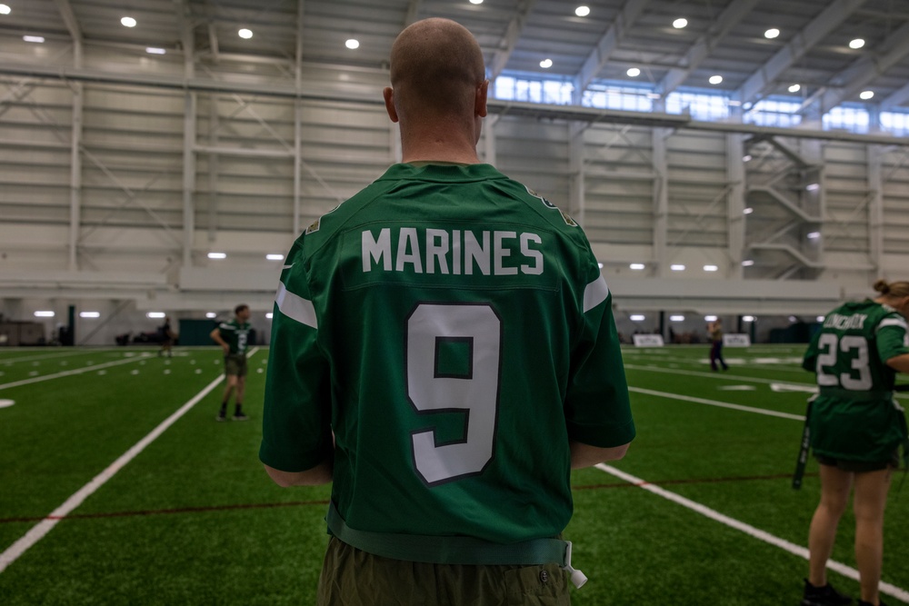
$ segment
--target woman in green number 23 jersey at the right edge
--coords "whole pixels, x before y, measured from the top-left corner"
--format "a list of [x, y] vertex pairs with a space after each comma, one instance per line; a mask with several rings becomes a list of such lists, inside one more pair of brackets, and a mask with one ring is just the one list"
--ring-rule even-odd
[[821, 463], [821, 502], [808, 537], [803, 606], [852, 602], [827, 583], [826, 565], [853, 487], [859, 606], [884, 603], [877, 589], [884, 505], [899, 465], [899, 446], [905, 448], [906, 442], [894, 381], [897, 372], [909, 373], [909, 282], [878, 280], [874, 290], [880, 293], [874, 300], [844, 303], [826, 315], [802, 364], [817, 374], [818, 395], [808, 409], [806, 432]]

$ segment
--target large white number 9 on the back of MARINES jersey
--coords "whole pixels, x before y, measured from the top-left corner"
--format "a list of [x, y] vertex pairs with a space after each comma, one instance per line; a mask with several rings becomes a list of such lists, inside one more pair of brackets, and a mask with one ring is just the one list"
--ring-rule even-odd
[[[464, 373], [439, 372], [439, 346], [461, 344]], [[407, 319], [407, 395], [418, 412], [464, 412], [464, 439], [414, 432], [416, 470], [430, 485], [482, 472], [493, 458], [501, 322], [484, 304], [422, 303]]]

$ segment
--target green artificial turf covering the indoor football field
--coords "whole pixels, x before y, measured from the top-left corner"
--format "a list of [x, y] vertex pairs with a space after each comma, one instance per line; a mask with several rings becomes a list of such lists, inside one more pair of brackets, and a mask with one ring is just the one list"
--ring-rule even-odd
[[[799, 368], [802, 350], [729, 348], [730, 370], [712, 373], [706, 346], [625, 349], [638, 437], [610, 465], [804, 547], [819, 485], [811, 462], [802, 490], [790, 487], [802, 423], [722, 405], [803, 414], [808, 394], [793, 391], [812, 382]], [[216, 384], [0, 571], [0, 604], [314, 603], [330, 487], [281, 489], [258, 462], [266, 357], [250, 358], [250, 421], [215, 422], [224, 388]], [[0, 352], [0, 400], [15, 401], [0, 408], [0, 552], [221, 372], [215, 348], [177, 348], [171, 359], [154, 349]], [[906, 591], [902, 479], [894, 476], [888, 502], [884, 581]], [[600, 469], [572, 481], [565, 538], [590, 579], [572, 591], [574, 604], [799, 601], [802, 557]], [[847, 512], [834, 548], [852, 567], [853, 524]], [[857, 595], [856, 581], [830, 578]]]

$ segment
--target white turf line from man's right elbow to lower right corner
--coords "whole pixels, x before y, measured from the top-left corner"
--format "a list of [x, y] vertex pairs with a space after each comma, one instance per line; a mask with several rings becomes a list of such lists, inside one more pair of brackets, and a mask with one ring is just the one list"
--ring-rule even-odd
[[[605, 463], [597, 463], [595, 465], [595, 467], [602, 472], [606, 472], [611, 475], [614, 475], [616, 478], [619, 478], [620, 480], [624, 480], [625, 482], [634, 484], [635, 486], [637, 486], [639, 488], [643, 488], [647, 492], [653, 492], [654, 494], [659, 495], [669, 501], [678, 503], [679, 505], [682, 505], [683, 507], [690, 509], [693, 512], [700, 513], [701, 515], [704, 515], [704, 516], [710, 518], [711, 520], [714, 520], [714, 522], [720, 522], [721, 524], [725, 524], [726, 526], [729, 526], [730, 528], [734, 528], [737, 531], [743, 531], [745, 534], [748, 534], [759, 541], [764, 541], [764, 542], [770, 543], [771, 545], [774, 545], [775, 547], [779, 547], [780, 549], [782, 549], [784, 551], [788, 551], [789, 553], [792, 553], [793, 555], [803, 558], [804, 560], [808, 559], [808, 550], [806, 548], [802, 547], [801, 545], [796, 545], [795, 543], [791, 543], [789, 541], [785, 541], [784, 539], [780, 539], [779, 537], [776, 537], [773, 534], [770, 534], [769, 532], [754, 528], [754, 526], [752, 526], [750, 524], [746, 524], [744, 522], [739, 522], [738, 520], [735, 520], [734, 518], [730, 518], [729, 516], [724, 515], [723, 513], [710, 509], [706, 505], [702, 505], [699, 502], [694, 502], [691, 499], [686, 499], [679, 494], [667, 491], [664, 488], [660, 488], [659, 486], [656, 486], [654, 484], [651, 484], [650, 482], [641, 480], [640, 478], [636, 478], [633, 475], [631, 475], [630, 473], [625, 473], [625, 472], [622, 472], [621, 470], [615, 469], [611, 465], [606, 465]], [[844, 577], [847, 577], [854, 581], [859, 580], [858, 571], [856, 571], [854, 568], [846, 566], [845, 564], [843, 564], [841, 562], [834, 561], [834, 560], [828, 561], [827, 568], [829, 568], [832, 571], [839, 572]], [[881, 581], [881, 583], [879, 585], [879, 589], [880, 589], [881, 593], [885, 593], [893, 598], [896, 598], [897, 600], [901, 600], [906, 603], [909, 603], [909, 591], [905, 591], [904, 589], [901, 589], [891, 583], [884, 582], [884, 581]]]

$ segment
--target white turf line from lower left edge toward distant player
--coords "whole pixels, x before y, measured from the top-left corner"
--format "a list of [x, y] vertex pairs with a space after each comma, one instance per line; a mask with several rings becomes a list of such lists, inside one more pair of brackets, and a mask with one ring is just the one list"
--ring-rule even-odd
[[[252, 357], [253, 354], [257, 351], [258, 348], [252, 349], [249, 353], [249, 357]], [[152, 432], [146, 435], [145, 438], [139, 442], [135, 442], [135, 445], [128, 451], [121, 454], [115, 462], [112, 462], [110, 465], [108, 465], [105, 471], [98, 473], [91, 482], [88, 482], [85, 484], [85, 486], [74, 492], [72, 496], [66, 499], [64, 504], [57, 507], [53, 512], [50, 512], [44, 520], [38, 522], [18, 541], [15, 541], [15, 543], [10, 545], [3, 553], [0, 553], [0, 572], [5, 571], [6, 567], [16, 561], [19, 556], [28, 550], [29, 547], [34, 545], [36, 542], [41, 541], [45, 537], [45, 534], [54, 529], [57, 522], [63, 520], [67, 515], [69, 515], [70, 512], [81, 505], [85, 499], [91, 496], [93, 492], [101, 488], [105, 482], [113, 478], [114, 474], [123, 469], [126, 463], [135, 459], [135, 456], [144, 451], [145, 447], [148, 446], [148, 444], [155, 442], [158, 436], [164, 433], [168, 427], [173, 425], [186, 412], [189, 412], [189, 410], [193, 408], [196, 403], [205, 398], [206, 395], [208, 395], [213, 389], [215, 389], [215, 387], [217, 387], [218, 383], [224, 380], [225, 375], [222, 374], [217, 379], [215, 379], [215, 381], [208, 383], [208, 385], [206, 385], [201, 392], [196, 393], [189, 402], [186, 402], [176, 412], [167, 417], [163, 422], [161, 422], [160, 425], [155, 427]]]

